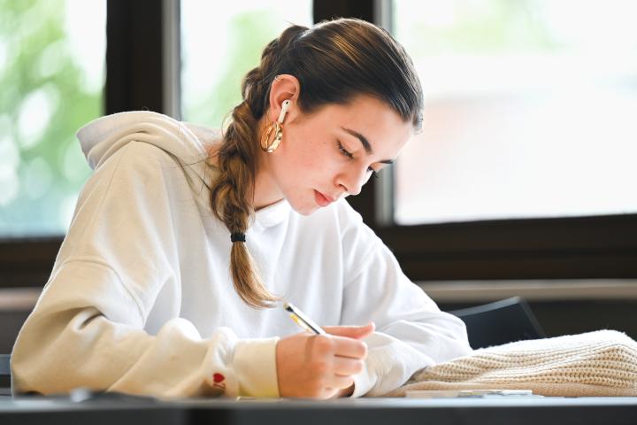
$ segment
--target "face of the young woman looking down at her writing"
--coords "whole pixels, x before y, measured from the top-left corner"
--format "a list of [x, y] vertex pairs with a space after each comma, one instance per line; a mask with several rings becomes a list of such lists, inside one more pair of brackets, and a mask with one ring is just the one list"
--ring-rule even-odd
[[296, 111], [289, 118], [279, 148], [264, 152], [260, 174], [267, 174], [273, 197], [285, 197], [303, 215], [357, 195], [372, 173], [395, 160], [414, 130], [387, 104], [368, 96], [311, 114]]

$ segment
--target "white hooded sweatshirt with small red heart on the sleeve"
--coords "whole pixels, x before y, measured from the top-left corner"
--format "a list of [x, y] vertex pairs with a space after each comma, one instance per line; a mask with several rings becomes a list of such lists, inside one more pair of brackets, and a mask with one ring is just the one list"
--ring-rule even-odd
[[[219, 136], [123, 112], [78, 138], [95, 173], [19, 332], [14, 393], [278, 397], [275, 347], [300, 329], [282, 309], [250, 308], [234, 291], [229, 233], [203, 184], [204, 145]], [[280, 201], [259, 210], [246, 235], [273, 294], [320, 325], [375, 322], [354, 397], [382, 395], [470, 352], [463, 322], [407, 279], [344, 199], [308, 217]]]

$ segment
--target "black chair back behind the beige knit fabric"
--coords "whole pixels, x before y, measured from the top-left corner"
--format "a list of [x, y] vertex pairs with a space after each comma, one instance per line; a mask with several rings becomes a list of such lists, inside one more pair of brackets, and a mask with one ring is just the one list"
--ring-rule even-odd
[[524, 298], [506, 298], [495, 303], [453, 310], [464, 321], [473, 349], [538, 339], [546, 335]]

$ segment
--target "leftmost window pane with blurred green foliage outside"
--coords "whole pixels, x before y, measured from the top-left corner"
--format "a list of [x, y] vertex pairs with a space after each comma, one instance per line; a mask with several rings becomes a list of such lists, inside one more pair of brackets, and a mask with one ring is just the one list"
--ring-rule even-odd
[[0, 238], [62, 235], [102, 115], [105, 1], [0, 1]]

